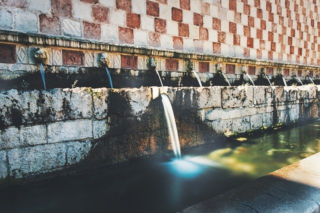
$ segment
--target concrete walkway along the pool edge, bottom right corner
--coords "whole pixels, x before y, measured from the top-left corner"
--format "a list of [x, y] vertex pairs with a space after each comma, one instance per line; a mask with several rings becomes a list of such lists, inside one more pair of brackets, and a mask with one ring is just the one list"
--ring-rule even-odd
[[182, 212], [320, 212], [320, 152]]

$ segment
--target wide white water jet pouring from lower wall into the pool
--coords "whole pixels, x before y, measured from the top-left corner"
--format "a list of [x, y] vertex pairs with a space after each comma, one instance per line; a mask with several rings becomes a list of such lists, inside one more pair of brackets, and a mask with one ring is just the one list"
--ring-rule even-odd
[[161, 94], [161, 99], [163, 103], [166, 123], [168, 125], [168, 131], [171, 138], [173, 153], [176, 158], [180, 158], [181, 157], [180, 142], [179, 142], [178, 132], [176, 129], [172, 106], [166, 94]]

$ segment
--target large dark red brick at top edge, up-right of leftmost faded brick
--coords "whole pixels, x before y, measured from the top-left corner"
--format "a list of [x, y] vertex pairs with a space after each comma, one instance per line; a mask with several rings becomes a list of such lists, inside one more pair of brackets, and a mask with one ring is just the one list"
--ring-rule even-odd
[[51, 13], [56, 16], [72, 17], [72, 0], [51, 0]]

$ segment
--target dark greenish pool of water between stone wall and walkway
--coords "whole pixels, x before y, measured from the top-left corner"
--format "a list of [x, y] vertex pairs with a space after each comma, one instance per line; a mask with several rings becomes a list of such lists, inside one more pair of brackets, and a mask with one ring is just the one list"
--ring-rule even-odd
[[[245, 140], [246, 139], [246, 140]], [[320, 120], [0, 191], [1, 212], [176, 212], [320, 151]]]

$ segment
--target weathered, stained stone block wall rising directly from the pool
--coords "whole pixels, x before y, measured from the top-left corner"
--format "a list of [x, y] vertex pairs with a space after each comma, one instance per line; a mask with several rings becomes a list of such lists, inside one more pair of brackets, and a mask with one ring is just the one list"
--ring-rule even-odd
[[[0, 178], [34, 178], [171, 150], [157, 87], [0, 92]], [[169, 87], [182, 148], [318, 117], [320, 87]], [[153, 96], [154, 97], [154, 96]]]

